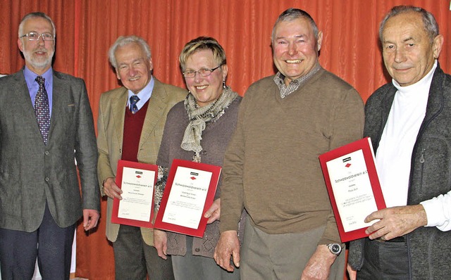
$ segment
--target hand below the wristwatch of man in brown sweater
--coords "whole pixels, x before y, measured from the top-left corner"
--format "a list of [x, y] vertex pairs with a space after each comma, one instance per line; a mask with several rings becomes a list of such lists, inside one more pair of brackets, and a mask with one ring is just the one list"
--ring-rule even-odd
[[329, 248], [326, 245], [319, 245], [316, 251], [311, 255], [309, 262], [304, 267], [302, 272], [302, 280], [321, 279], [326, 280], [329, 278], [330, 267], [335, 262], [337, 257], [330, 253]]

